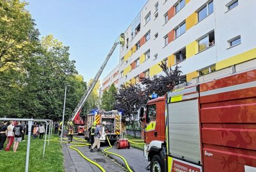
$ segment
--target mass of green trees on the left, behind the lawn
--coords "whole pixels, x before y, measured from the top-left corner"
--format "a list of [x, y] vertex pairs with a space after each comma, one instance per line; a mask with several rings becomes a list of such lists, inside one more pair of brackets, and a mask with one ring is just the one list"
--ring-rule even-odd
[[69, 47], [39, 32], [26, 3], [0, 1], [0, 116], [49, 118], [63, 113], [68, 84], [66, 118], [86, 90], [69, 58]]

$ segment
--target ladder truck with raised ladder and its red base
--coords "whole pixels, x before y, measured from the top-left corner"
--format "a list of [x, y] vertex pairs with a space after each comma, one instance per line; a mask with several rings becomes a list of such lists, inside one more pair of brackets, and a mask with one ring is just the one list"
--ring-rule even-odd
[[95, 87], [95, 84], [97, 83], [100, 75], [102, 74], [102, 71], [104, 70], [105, 66], [107, 65], [109, 58], [111, 57], [111, 55], [113, 54], [113, 52], [116, 49], [116, 46], [118, 44], [124, 46], [124, 33], [121, 33], [120, 36], [118, 36], [118, 38], [116, 38], [113, 46], [111, 47], [111, 50], [108, 53], [108, 56], [106, 56], [104, 62], [102, 63], [102, 65], [99, 68], [99, 71], [97, 72], [97, 74], [95, 75], [95, 77], [93, 78], [92, 83], [90, 84], [90, 86], [88, 87], [88, 89], [84, 92], [83, 97], [81, 98], [80, 102], [77, 104], [76, 108], [74, 109], [73, 113], [71, 114], [71, 117], [69, 118], [69, 121], [73, 121], [74, 124], [77, 126], [77, 130], [80, 132], [82, 132], [81, 130], [84, 131], [84, 127], [82, 125], [84, 125], [84, 121], [80, 119], [80, 112], [82, 107], [84, 106], [87, 98], [89, 97], [90, 93], [92, 92], [93, 88]]

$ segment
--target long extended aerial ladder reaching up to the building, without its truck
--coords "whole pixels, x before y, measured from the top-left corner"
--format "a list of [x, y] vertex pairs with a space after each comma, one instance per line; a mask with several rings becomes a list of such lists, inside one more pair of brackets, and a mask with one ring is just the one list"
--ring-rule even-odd
[[97, 72], [97, 74], [93, 78], [93, 81], [90, 84], [90, 86], [88, 87], [88, 89], [85, 91], [85, 93], [84, 93], [83, 97], [81, 98], [79, 104], [77, 104], [76, 109], [74, 109], [74, 111], [73, 111], [73, 113], [71, 115], [72, 117], [70, 117], [70, 120], [74, 121], [74, 119], [76, 119], [77, 115], [79, 114], [79, 111], [84, 106], [87, 98], [89, 97], [90, 93], [92, 92], [93, 88], [95, 87], [95, 84], [97, 83], [100, 75], [102, 74], [102, 71], [104, 70], [105, 66], [107, 65], [109, 58], [111, 57], [111, 55], [115, 51], [116, 46], [118, 44], [121, 44], [121, 45], [124, 46], [124, 33], [121, 33], [121, 35], [118, 36], [118, 38], [116, 38], [114, 45], [112, 46], [111, 50], [108, 53], [108, 56], [104, 60], [103, 64], [100, 66], [99, 71]]

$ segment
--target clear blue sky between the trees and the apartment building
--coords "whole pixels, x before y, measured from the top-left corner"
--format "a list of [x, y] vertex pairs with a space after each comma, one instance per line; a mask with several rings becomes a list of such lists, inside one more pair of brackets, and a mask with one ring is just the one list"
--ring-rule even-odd
[[[93, 78], [120, 33], [126, 31], [147, 0], [26, 0], [41, 35], [70, 47], [70, 59], [84, 81]], [[119, 60], [119, 46], [100, 80]]]

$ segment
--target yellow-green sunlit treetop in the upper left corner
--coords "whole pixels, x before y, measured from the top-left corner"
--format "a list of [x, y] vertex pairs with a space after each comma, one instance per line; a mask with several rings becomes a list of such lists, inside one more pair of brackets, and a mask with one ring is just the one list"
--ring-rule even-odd
[[39, 32], [26, 2], [0, 1], [0, 71], [20, 68], [36, 51]]

